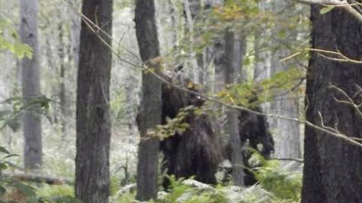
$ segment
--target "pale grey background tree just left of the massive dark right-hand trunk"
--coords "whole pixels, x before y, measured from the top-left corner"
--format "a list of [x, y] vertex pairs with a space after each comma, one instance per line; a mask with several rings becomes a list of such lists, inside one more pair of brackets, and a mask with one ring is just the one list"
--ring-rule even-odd
[[[287, 62], [280, 62], [283, 58], [293, 53], [293, 43], [298, 39], [298, 31], [294, 23], [295, 15], [299, 15], [299, 9], [293, 2], [276, 1], [270, 3], [273, 13], [276, 15], [275, 26], [271, 30], [271, 53], [270, 57], [270, 75], [278, 74], [282, 71], [288, 71], [290, 68], [300, 67], [298, 60], [288, 60]], [[297, 19], [297, 25], [298, 25]], [[302, 26], [301, 26], [302, 27]], [[290, 29], [289, 32], [286, 32]], [[296, 78], [296, 80], [303, 80], [303, 78]], [[301, 83], [297, 83], [300, 85]], [[277, 90], [275, 92], [274, 101], [271, 103], [271, 111], [277, 115], [283, 115], [289, 118], [298, 119], [299, 114], [299, 98], [298, 93], [293, 89]], [[270, 127], [274, 130], [276, 140], [276, 157], [282, 158], [300, 158], [300, 124], [294, 121], [285, 119], [272, 119]]]

